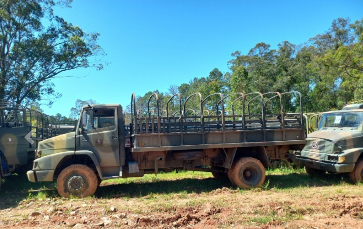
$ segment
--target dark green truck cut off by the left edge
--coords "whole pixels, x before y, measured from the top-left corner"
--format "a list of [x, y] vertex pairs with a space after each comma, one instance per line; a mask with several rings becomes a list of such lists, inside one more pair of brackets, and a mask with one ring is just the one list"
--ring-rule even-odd
[[32, 165], [39, 142], [59, 135], [58, 123], [53, 116], [0, 100], [0, 181]]

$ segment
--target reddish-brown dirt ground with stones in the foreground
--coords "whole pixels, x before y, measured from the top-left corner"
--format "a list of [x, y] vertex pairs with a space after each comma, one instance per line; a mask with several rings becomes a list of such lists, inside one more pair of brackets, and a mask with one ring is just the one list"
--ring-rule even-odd
[[[101, 188], [109, 185], [118, 184], [102, 183]], [[0, 203], [0, 228], [363, 229], [362, 191], [362, 185], [344, 184], [251, 190], [222, 187], [140, 197], [66, 199], [54, 195], [26, 198], [16, 205], [9, 195]]]

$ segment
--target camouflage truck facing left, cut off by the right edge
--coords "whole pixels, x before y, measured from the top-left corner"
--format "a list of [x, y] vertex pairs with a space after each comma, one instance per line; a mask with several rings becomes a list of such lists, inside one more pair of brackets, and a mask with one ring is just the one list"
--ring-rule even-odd
[[363, 177], [363, 104], [321, 114], [318, 130], [291, 159], [309, 175], [349, 173], [353, 182]]

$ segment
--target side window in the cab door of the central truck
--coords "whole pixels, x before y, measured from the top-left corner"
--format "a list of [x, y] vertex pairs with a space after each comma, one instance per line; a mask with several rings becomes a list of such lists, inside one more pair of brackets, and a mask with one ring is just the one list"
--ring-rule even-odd
[[97, 108], [93, 110], [93, 123], [94, 127], [110, 128], [111, 130], [116, 127], [115, 109], [110, 108]]

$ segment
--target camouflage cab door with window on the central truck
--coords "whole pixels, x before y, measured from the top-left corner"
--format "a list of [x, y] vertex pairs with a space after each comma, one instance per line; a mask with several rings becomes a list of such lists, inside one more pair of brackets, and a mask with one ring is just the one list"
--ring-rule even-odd
[[91, 107], [84, 111], [87, 123], [79, 134], [80, 150], [92, 151], [101, 167], [120, 166], [117, 109]]

